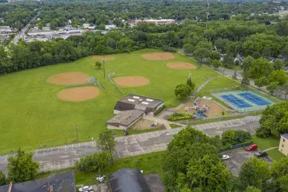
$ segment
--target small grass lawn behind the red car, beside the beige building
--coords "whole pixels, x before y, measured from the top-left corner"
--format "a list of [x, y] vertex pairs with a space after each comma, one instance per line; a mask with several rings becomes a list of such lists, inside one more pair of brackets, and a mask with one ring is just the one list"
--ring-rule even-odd
[[259, 138], [255, 134], [252, 135], [252, 140], [257, 144], [258, 148], [261, 150], [268, 149], [270, 147], [278, 147], [280, 142], [280, 137], [269, 136], [268, 138]]

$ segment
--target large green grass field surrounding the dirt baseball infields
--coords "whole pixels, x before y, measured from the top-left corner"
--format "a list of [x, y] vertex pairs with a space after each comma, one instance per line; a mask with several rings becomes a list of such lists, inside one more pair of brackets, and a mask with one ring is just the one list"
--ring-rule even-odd
[[[143, 53], [158, 52], [143, 49], [132, 53], [117, 54], [115, 60], [106, 62], [106, 74], [116, 72], [118, 76], [140, 75], [147, 77], [147, 86], [122, 88], [125, 94], [134, 93], [164, 99], [167, 107], [175, 107], [184, 98], [174, 95], [177, 84], [185, 83], [189, 73], [196, 86], [216, 73], [211, 69], [175, 70], [165, 67], [169, 62], [191, 62], [193, 60], [175, 53], [173, 60], [150, 61], [141, 57]], [[123, 97], [109, 81], [103, 71], [94, 67], [92, 57], [75, 62], [29, 69], [0, 76], [0, 154], [12, 152], [18, 147], [36, 149], [64, 145], [75, 141], [75, 123], [80, 141], [87, 141], [105, 127], [105, 121], [113, 116], [113, 107]], [[47, 77], [64, 72], [83, 72], [95, 76], [106, 91], [95, 99], [82, 102], [61, 101], [56, 97], [62, 85], [46, 82]], [[226, 78], [225, 78], [226, 79]], [[223, 82], [225, 82], [223, 77]], [[219, 85], [219, 84], [218, 84]]]

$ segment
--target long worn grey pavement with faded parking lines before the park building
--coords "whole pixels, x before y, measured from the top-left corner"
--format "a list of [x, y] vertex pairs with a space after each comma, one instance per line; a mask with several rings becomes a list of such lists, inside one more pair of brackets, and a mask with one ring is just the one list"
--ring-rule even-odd
[[[248, 130], [254, 133], [259, 127], [260, 116], [245, 117], [241, 119], [232, 119], [228, 121], [219, 121], [215, 123], [204, 123], [202, 125], [193, 125], [197, 130], [213, 136], [222, 134], [225, 130]], [[175, 128], [171, 130], [161, 130], [147, 132], [143, 134], [134, 134], [130, 136], [117, 137], [117, 149], [114, 154], [115, 158], [126, 156], [136, 156], [150, 152], [158, 152], [167, 149], [168, 143], [184, 128]], [[86, 143], [77, 143], [64, 145], [47, 149], [38, 149], [34, 151], [34, 160], [40, 163], [40, 171], [53, 171], [73, 167], [80, 158], [99, 152], [95, 141]], [[0, 156], [0, 171], [7, 173], [7, 161], [10, 156], [16, 154], [7, 154]]]

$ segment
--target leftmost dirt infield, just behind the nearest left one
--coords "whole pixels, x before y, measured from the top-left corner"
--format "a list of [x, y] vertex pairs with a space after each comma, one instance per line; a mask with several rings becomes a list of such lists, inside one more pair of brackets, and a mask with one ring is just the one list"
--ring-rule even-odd
[[88, 75], [78, 72], [59, 73], [47, 78], [50, 84], [83, 84], [87, 80]]

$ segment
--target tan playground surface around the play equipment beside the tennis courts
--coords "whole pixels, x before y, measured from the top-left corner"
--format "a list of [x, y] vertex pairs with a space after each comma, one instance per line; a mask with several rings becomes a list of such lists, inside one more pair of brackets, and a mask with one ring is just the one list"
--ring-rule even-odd
[[[188, 102], [185, 104], [185, 106], [189, 108], [189, 107], [193, 106], [193, 102], [194, 102], [194, 101], [188, 101]], [[205, 115], [208, 115], [208, 117], [222, 115], [221, 113], [222, 113], [223, 111], [225, 111], [224, 108], [221, 108], [218, 104], [216, 104], [214, 101], [211, 101], [211, 100], [200, 99], [200, 102], [197, 103], [197, 105], [198, 105], [200, 108], [201, 108], [202, 106], [204, 106], [204, 105], [206, 105], [206, 106], [208, 106], [209, 108], [211, 108], [211, 113], [210, 113], [210, 112], [204, 112], [204, 114], [205, 114]], [[185, 112], [185, 110], [184, 110], [185, 106], [180, 109], [181, 112]], [[191, 115], [192, 115], [193, 112], [197, 112], [197, 111], [196, 111], [195, 109], [193, 109], [193, 108], [189, 108], [188, 111], [185, 112], [185, 113], [188, 113], [188, 114], [191, 114]]]

